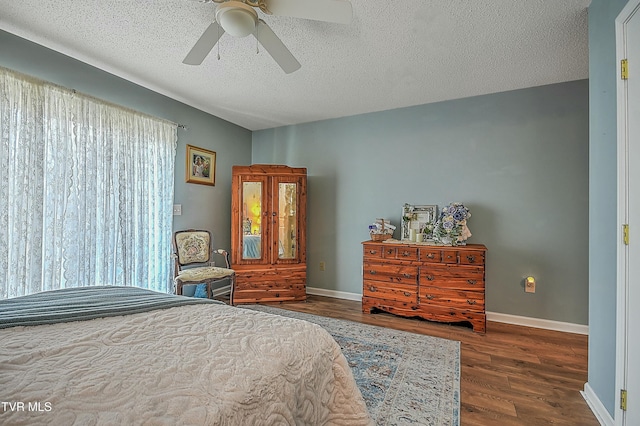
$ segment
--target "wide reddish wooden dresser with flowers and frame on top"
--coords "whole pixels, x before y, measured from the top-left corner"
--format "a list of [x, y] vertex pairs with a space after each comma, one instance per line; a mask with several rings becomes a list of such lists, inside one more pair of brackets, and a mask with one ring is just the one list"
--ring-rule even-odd
[[364, 313], [376, 308], [432, 321], [468, 321], [473, 331], [485, 332], [484, 245], [362, 244]]

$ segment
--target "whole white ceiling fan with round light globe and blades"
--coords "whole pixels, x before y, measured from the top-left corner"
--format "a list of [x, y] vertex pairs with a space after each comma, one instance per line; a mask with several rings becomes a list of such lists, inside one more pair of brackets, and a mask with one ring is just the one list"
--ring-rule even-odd
[[215, 21], [207, 27], [182, 63], [200, 65], [216, 45], [222, 34], [246, 37], [253, 34], [282, 70], [289, 74], [300, 63], [273, 30], [258, 18], [255, 8], [268, 15], [290, 16], [315, 21], [348, 24], [351, 22], [351, 3], [346, 0], [196, 0], [217, 3]]

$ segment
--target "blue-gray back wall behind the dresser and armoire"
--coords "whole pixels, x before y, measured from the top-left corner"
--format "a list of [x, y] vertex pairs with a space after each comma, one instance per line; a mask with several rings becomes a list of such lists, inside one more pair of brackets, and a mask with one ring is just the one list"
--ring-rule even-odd
[[370, 222], [461, 201], [487, 310], [587, 324], [588, 105], [580, 80], [280, 127], [253, 133], [253, 162], [308, 169], [311, 287], [361, 293]]

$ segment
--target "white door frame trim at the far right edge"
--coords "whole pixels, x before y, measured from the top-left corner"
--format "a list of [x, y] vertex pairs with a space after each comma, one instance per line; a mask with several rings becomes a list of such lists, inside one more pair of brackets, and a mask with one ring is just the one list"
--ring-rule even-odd
[[[625, 80], [620, 78], [620, 61], [626, 59], [626, 37], [625, 25], [633, 16], [634, 12], [640, 8], [640, 0], [629, 0], [615, 20], [616, 31], [616, 102], [617, 102], [617, 237], [616, 237], [616, 379], [615, 379], [615, 411], [614, 423], [616, 425], [625, 424], [624, 411], [620, 408], [620, 389], [626, 388], [627, 371], [627, 317], [629, 309], [628, 300], [628, 249], [624, 245], [622, 236], [622, 225], [628, 223], [627, 193], [628, 164], [627, 164], [627, 143], [628, 143], [628, 122], [627, 122], [627, 85]], [[638, 12], [636, 12], [638, 13]]]

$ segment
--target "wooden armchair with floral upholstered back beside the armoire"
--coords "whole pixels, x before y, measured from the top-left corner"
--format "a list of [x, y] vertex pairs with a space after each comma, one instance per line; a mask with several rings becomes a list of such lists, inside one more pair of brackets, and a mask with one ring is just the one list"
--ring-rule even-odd
[[[213, 254], [224, 257], [226, 268], [211, 265]], [[230, 268], [229, 253], [223, 249], [213, 250], [209, 231], [187, 229], [173, 234], [173, 258], [175, 261], [173, 285], [175, 293], [182, 294], [185, 285], [205, 284], [207, 297], [211, 299], [211, 285], [229, 280], [231, 294], [229, 303], [233, 305], [233, 289], [236, 273]], [[187, 268], [184, 268], [187, 266]]]

